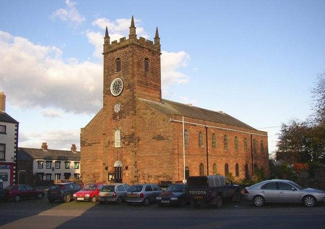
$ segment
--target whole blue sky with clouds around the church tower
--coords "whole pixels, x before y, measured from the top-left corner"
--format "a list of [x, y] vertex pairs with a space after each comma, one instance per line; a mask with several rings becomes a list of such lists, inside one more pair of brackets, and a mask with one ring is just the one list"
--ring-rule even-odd
[[102, 107], [103, 43], [158, 27], [163, 98], [269, 135], [311, 114], [325, 69], [325, 1], [0, 1], [0, 91], [19, 146], [80, 150]]

